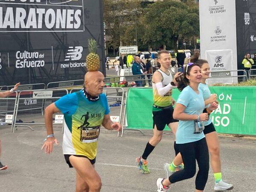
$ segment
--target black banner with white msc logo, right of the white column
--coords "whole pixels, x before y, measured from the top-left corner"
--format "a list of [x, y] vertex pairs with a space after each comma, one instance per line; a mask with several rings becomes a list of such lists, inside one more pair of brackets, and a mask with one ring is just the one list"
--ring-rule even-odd
[[238, 69], [243, 69], [244, 55], [256, 53], [255, 0], [236, 0], [236, 36]]

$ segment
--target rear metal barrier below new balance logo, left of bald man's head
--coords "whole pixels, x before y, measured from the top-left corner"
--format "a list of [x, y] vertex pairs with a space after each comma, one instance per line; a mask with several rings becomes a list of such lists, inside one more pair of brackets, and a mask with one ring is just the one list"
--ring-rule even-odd
[[74, 88], [83, 88], [84, 86], [84, 79], [73, 80], [73, 81], [57, 81], [57, 82], [50, 82], [47, 84], [46, 89], [74, 89]]

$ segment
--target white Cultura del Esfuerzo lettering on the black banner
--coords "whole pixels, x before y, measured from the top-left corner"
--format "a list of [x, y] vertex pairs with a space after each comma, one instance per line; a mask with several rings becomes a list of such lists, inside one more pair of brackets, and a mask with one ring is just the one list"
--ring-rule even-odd
[[17, 51], [16, 52], [16, 68], [44, 67], [44, 53]]

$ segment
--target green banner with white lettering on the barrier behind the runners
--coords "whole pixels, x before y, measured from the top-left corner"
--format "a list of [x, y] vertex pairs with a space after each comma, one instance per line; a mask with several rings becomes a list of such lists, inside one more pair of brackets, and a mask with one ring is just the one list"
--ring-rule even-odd
[[[256, 87], [209, 88], [218, 96], [219, 106], [210, 116], [217, 132], [256, 135]], [[179, 93], [173, 90], [175, 100]], [[152, 88], [130, 88], [126, 103], [127, 128], [152, 129], [152, 104]]]

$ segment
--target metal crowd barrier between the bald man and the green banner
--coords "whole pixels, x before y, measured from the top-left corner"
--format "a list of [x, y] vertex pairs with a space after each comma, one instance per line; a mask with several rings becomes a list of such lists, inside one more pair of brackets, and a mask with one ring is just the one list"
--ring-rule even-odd
[[[74, 93], [76, 91], [79, 91], [81, 89], [72, 89], [70, 90], [70, 93]], [[118, 90], [118, 93], [121, 93], [121, 96], [117, 96], [116, 94], [108, 94], [108, 108], [109, 108], [109, 114], [111, 116], [111, 120], [113, 122], [119, 122], [121, 124], [122, 121], [122, 109], [124, 105], [124, 89], [120, 87], [116, 88], [104, 88], [103, 91], [107, 93], [116, 93], [116, 90]], [[119, 137], [119, 133], [117, 135]]]

